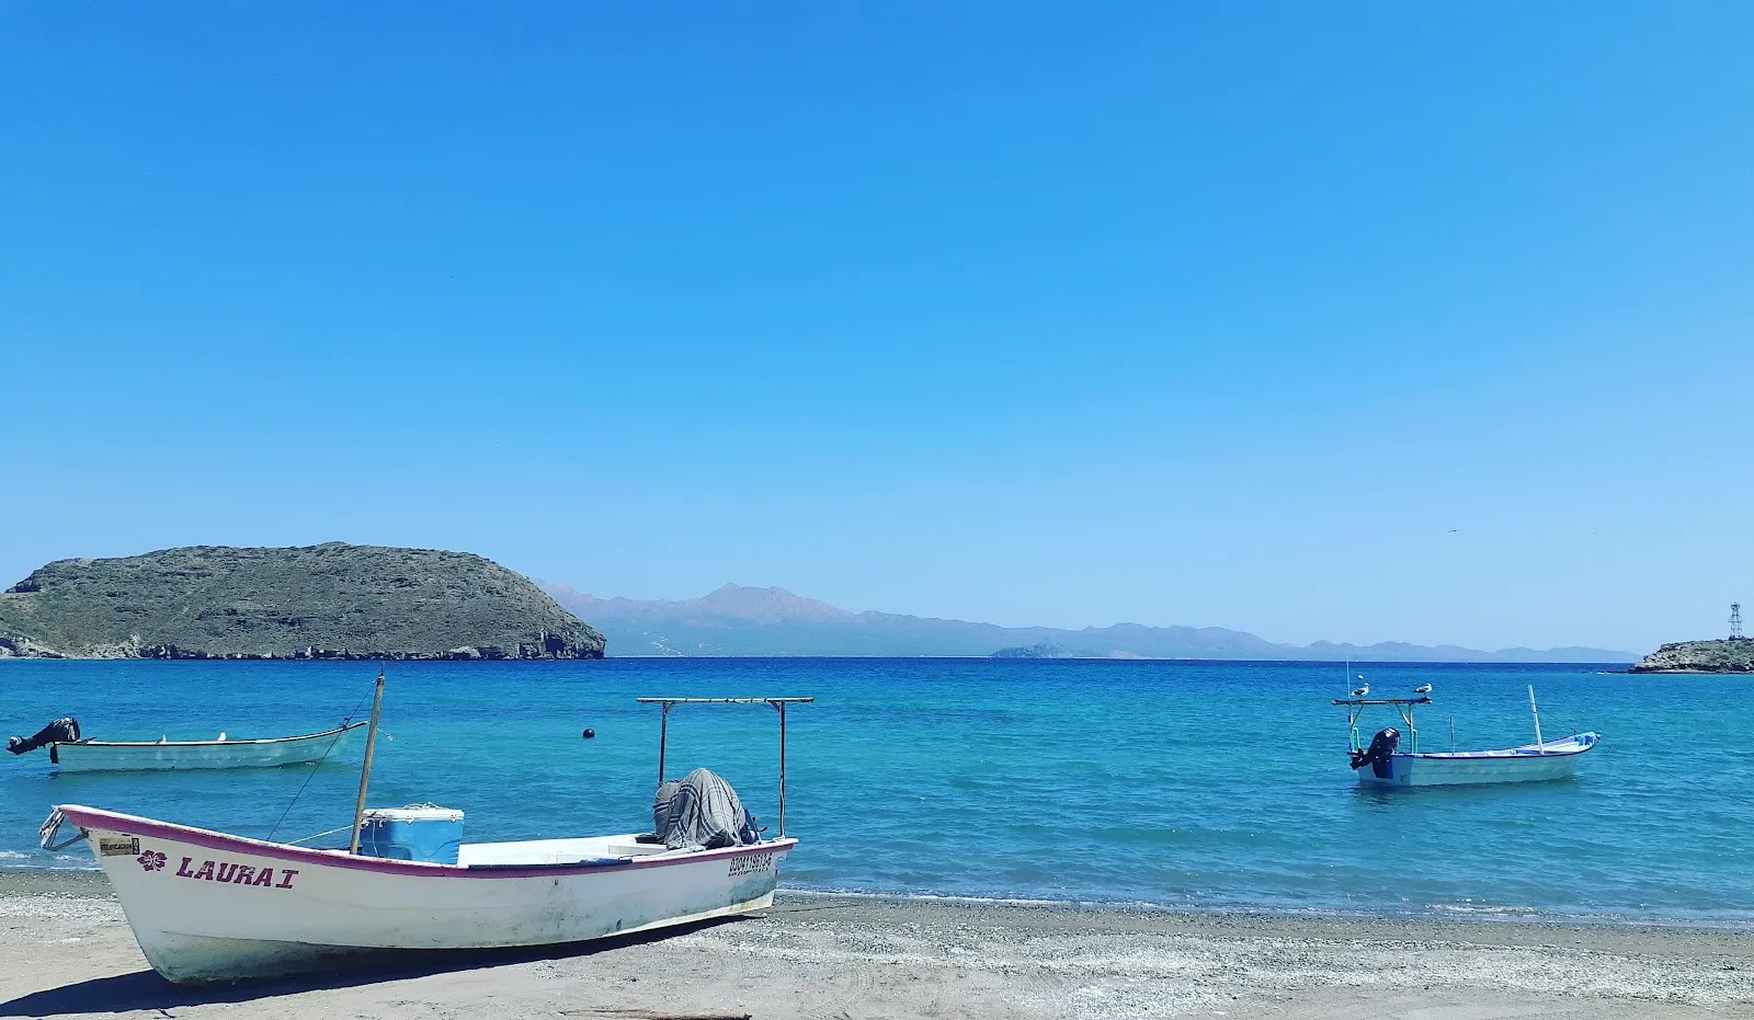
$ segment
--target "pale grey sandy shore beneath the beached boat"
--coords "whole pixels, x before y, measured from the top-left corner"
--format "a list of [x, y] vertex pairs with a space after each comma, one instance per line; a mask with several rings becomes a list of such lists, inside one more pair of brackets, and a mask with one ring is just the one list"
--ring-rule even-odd
[[0, 1016], [1754, 1016], [1754, 932], [786, 896], [565, 953], [177, 988], [100, 875], [0, 873]]

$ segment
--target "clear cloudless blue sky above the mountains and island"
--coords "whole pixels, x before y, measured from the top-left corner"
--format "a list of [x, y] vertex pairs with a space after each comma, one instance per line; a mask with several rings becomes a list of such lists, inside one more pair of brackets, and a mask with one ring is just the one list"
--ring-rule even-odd
[[1007, 624], [1754, 603], [1743, 4], [0, 12], [0, 575]]

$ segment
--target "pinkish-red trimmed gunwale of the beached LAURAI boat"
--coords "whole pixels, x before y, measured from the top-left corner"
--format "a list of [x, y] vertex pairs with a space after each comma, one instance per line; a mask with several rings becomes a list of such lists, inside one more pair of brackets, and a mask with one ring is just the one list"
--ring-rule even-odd
[[[302, 864], [316, 864], [323, 868], [340, 868], [346, 871], [377, 871], [382, 875], [405, 875], [414, 878], [560, 878], [568, 875], [602, 875], [605, 871], [628, 871], [635, 868], [668, 868], [677, 864], [693, 864], [698, 861], [731, 861], [737, 857], [752, 857], [756, 854], [772, 854], [775, 850], [791, 850], [798, 845], [796, 839], [788, 836], [777, 836], [763, 843], [751, 846], [723, 846], [717, 850], [698, 850], [688, 855], [668, 857], [637, 857], [633, 861], [603, 864], [602, 859], [595, 862], [577, 862], [577, 864], [512, 864], [512, 866], [491, 866], [491, 868], [470, 868], [467, 864], [433, 864], [426, 861], [393, 861], [388, 857], [360, 857], [353, 854], [335, 852], [335, 850], [312, 850], [307, 846], [293, 846], [289, 843], [267, 843], [263, 839], [251, 839], [249, 836], [228, 836], [225, 832], [214, 832], [212, 829], [196, 829], [193, 825], [179, 825], [175, 822], [154, 822], [153, 818], [142, 818], [139, 815], [125, 815], [121, 811], [105, 811], [103, 808], [86, 808], [81, 804], [61, 804], [56, 808], [61, 815], [79, 825], [82, 831], [98, 829], [107, 832], [121, 832], [126, 836], [144, 836], [156, 839], [172, 839], [175, 843], [188, 843], [193, 846], [202, 846], [205, 850], [226, 850], [233, 854], [251, 854], [256, 857], [272, 857], [275, 861], [296, 861]], [[535, 839], [531, 839], [535, 841]]]

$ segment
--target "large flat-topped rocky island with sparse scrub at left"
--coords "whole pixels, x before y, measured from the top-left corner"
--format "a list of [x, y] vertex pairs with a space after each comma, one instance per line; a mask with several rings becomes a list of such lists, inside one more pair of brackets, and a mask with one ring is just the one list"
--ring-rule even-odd
[[60, 559], [0, 594], [0, 657], [602, 659], [603, 643], [523, 575], [437, 549]]

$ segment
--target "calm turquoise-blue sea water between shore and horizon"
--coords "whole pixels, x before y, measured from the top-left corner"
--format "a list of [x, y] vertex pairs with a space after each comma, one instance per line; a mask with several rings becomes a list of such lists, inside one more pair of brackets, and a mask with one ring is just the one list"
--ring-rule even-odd
[[[786, 883], [1175, 908], [1480, 911], [1754, 925], [1754, 680], [1591, 666], [1361, 666], [1379, 696], [1437, 685], [1424, 750], [1598, 729], [1580, 778], [1373, 794], [1345, 768], [1344, 671], [1324, 664], [619, 659], [391, 664], [374, 804], [463, 808], [474, 839], [651, 825], [658, 713], [640, 694], [814, 694], [789, 720]], [[7, 733], [307, 733], [368, 696], [347, 662], [0, 662]], [[361, 708], [360, 719], [365, 717]], [[1387, 719], [1379, 719], [1379, 726]], [[596, 740], [581, 740], [582, 727]], [[775, 717], [682, 706], [670, 773], [710, 766], [772, 824]], [[240, 834], [347, 824], [356, 762], [54, 775], [0, 755], [0, 866], [54, 803]], [[305, 785], [309, 780], [309, 785]], [[302, 796], [300, 792], [303, 785]], [[291, 808], [288, 810], [288, 804]], [[282, 820], [284, 815], [284, 820]]]

